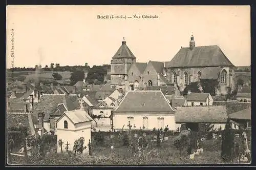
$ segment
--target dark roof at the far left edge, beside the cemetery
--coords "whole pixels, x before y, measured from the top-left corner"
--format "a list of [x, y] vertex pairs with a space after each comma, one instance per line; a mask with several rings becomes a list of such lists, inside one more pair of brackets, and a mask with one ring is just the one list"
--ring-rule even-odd
[[35, 135], [34, 124], [30, 113], [11, 113], [7, 112], [6, 117], [7, 129], [25, 126], [31, 135]]

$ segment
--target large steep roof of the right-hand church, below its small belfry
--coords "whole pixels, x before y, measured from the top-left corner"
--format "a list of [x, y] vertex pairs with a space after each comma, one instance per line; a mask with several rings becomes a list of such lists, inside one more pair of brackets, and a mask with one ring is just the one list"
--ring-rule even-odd
[[219, 46], [202, 46], [189, 50], [181, 48], [165, 67], [207, 67], [207, 66], [234, 66]]

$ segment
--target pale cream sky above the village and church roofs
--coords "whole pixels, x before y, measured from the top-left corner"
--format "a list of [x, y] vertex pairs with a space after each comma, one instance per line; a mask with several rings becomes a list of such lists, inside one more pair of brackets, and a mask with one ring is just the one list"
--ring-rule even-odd
[[251, 58], [249, 6], [7, 6], [6, 32], [7, 68], [12, 45], [14, 67], [110, 64], [123, 37], [137, 62], [170, 61], [191, 34], [196, 46], [218, 45], [235, 66]]

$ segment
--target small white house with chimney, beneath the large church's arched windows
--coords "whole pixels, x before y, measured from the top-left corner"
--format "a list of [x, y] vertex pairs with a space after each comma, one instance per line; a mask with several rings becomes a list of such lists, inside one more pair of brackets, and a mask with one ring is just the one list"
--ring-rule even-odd
[[191, 93], [190, 91], [185, 95], [185, 99], [186, 106], [212, 105], [214, 102], [214, 99], [212, 99], [209, 93]]

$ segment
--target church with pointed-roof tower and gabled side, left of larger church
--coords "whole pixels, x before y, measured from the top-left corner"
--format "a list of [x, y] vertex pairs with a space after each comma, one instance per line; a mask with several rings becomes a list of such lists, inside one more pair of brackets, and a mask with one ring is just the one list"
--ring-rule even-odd
[[136, 62], [136, 57], [123, 38], [121, 47], [111, 60], [111, 88], [142, 90], [148, 86], [167, 86], [164, 77], [164, 62]]

